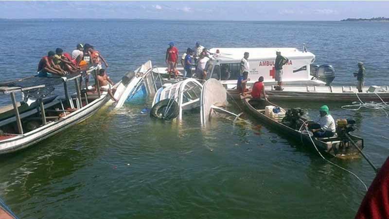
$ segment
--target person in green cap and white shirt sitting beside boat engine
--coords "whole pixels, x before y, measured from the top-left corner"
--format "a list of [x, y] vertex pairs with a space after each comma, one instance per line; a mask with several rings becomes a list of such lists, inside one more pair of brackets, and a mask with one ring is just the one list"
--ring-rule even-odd
[[329, 138], [335, 135], [335, 120], [330, 114], [330, 109], [327, 105], [323, 105], [319, 109], [320, 119], [318, 125], [320, 128], [312, 129], [313, 136], [318, 138]]

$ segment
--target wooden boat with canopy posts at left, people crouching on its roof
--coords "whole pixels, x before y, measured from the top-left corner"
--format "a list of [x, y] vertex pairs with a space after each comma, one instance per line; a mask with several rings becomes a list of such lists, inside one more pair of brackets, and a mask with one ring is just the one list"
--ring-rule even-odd
[[[88, 71], [96, 77], [96, 67]], [[45, 85], [32, 87], [0, 87], [0, 93], [10, 94], [14, 106], [15, 116], [0, 120], [0, 154], [14, 152], [34, 145], [54, 134], [78, 124], [101, 109], [110, 100], [106, 91], [100, 91], [96, 83], [97, 92], [82, 92], [79, 78], [81, 74], [63, 78], [65, 96], [44, 103], [39, 102], [39, 109], [31, 109], [20, 113], [15, 100], [16, 92], [44, 89]], [[57, 79], [55, 79], [57, 80]], [[68, 83], [74, 81], [76, 93], [68, 95]], [[97, 81], [97, 80], [95, 80]], [[122, 85], [124, 86], [119, 86]], [[128, 84], [119, 82], [114, 85], [118, 88], [115, 93], [120, 96]]]

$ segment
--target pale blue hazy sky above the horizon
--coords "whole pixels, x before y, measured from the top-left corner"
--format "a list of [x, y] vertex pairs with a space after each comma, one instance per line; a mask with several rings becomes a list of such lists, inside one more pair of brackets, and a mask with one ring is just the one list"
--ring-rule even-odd
[[340, 20], [388, 11], [389, 1], [0, 1], [0, 18]]

